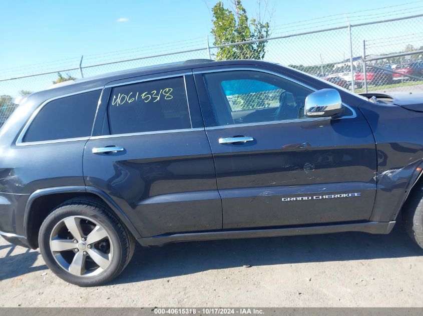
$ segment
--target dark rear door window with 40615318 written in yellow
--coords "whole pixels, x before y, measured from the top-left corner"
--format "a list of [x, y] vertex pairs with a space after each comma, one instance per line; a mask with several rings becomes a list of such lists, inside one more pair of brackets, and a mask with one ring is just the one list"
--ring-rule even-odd
[[112, 134], [191, 128], [183, 77], [115, 87], [108, 111]]

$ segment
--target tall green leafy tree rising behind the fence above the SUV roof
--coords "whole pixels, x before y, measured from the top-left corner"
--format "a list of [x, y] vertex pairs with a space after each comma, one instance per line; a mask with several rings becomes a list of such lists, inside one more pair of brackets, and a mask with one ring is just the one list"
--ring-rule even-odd
[[[241, 0], [233, 0], [233, 10], [225, 8], [222, 1], [212, 8], [214, 45], [257, 40], [269, 37], [269, 22], [260, 17], [248, 19]], [[216, 60], [263, 59], [266, 41], [231, 45], [218, 48]]]

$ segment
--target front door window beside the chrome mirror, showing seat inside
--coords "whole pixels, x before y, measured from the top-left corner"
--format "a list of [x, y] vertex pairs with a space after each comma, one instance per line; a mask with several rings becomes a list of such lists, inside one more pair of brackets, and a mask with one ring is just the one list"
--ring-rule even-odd
[[312, 90], [279, 76], [253, 70], [206, 73], [218, 125], [304, 118]]

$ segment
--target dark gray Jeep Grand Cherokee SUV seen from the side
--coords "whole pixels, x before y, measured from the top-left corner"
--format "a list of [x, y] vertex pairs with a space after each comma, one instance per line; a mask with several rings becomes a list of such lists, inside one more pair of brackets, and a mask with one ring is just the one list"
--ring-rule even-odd
[[0, 235], [80, 286], [136, 241], [387, 234], [401, 213], [423, 246], [422, 100], [255, 60], [58, 84], [0, 130]]

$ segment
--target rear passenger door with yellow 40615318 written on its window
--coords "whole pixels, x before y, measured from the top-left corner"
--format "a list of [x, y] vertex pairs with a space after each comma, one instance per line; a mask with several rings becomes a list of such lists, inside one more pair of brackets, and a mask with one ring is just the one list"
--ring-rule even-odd
[[141, 236], [222, 228], [191, 72], [109, 83], [94, 135], [84, 153], [86, 185], [109, 194]]

